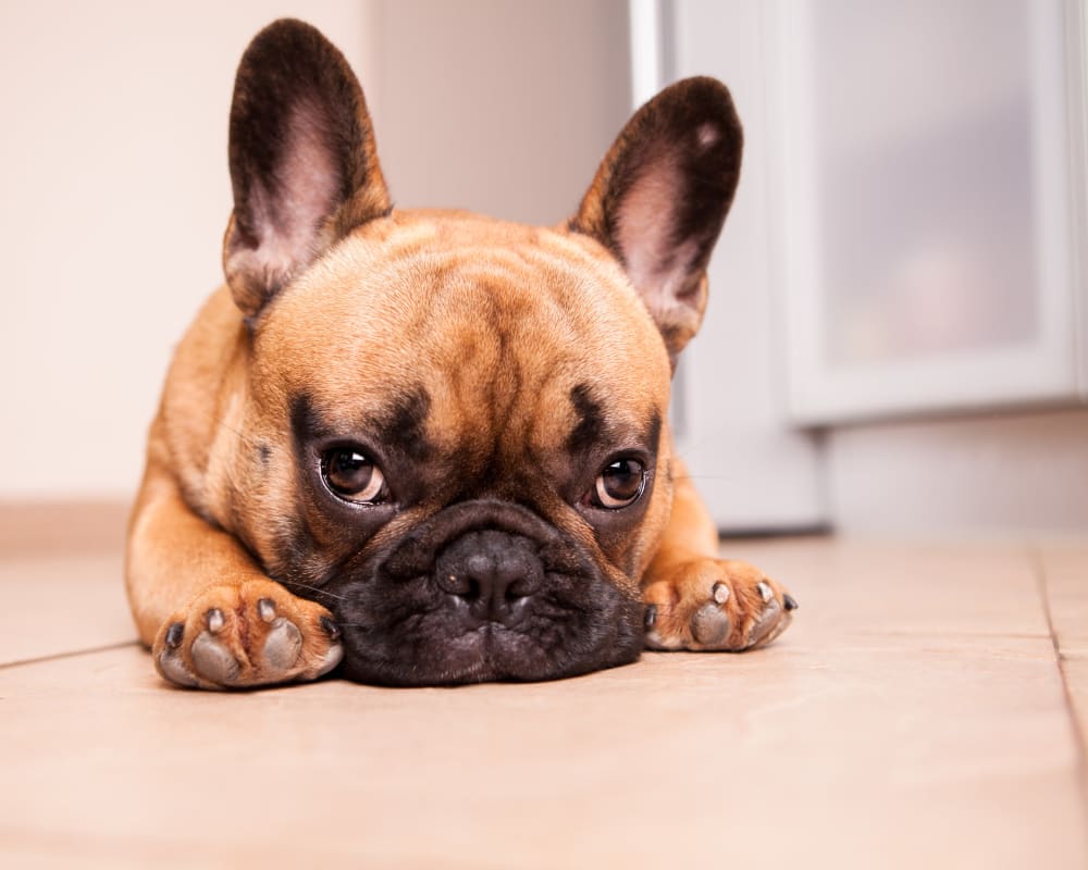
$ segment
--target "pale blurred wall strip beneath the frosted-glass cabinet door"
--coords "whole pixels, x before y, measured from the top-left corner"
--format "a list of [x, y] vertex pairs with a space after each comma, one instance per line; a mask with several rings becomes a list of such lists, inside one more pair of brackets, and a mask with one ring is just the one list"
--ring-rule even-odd
[[827, 462], [842, 532], [1088, 532], [1085, 410], [836, 428]]

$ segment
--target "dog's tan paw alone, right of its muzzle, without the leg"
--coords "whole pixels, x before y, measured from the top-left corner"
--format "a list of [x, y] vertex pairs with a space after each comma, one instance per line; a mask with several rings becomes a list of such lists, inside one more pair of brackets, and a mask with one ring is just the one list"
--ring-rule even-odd
[[648, 649], [724, 649], [764, 646], [784, 632], [798, 602], [745, 562], [697, 559], [651, 583], [646, 604]]

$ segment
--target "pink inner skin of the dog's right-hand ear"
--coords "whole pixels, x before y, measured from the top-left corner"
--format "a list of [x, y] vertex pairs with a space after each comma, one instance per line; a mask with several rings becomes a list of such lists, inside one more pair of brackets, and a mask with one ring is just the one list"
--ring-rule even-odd
[[[716, 135], [713, 128], [710, 133]], [[682, 196], [683, 174], [677, 158], [664, 150], [647, 162], [623, 196], [617, 214], [616, 243], [627, 274], [658, 318], [682, 302], [679, 296], [698, 253], [694, 240], [673, 240], [677, 203]]]

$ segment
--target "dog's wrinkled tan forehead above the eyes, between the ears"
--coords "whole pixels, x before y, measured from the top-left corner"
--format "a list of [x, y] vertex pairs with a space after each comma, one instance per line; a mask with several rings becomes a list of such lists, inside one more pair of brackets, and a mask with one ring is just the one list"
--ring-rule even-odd
[[425, 427], [440, 445], [500, 432], [546, 449], [588, 420], [644, 427], [668, 401], [668, 357], [594, 246], [460, 214], [372, 222], [264, 312], [255, 384], [306, 395], [327, 425]]

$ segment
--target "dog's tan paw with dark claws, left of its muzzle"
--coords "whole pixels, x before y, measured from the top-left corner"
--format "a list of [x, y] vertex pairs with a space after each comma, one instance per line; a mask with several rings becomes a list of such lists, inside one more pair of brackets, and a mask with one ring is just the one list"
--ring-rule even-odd
[[339, 637], [321, 605], [255, 580], [200, 592], [163, 623], [151, 654], [177, 685], [248, 688], [329, 673], [344, 657]]

